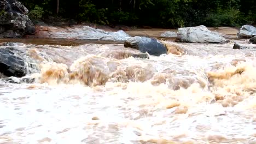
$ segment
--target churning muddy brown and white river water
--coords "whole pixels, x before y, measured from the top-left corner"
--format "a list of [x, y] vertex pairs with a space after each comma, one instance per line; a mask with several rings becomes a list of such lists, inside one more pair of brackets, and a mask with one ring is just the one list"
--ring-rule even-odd
[[123, 43], [16, 41], [39, 69], [0, 80], [2, 144], [256, 143], [256, 50], [165, 41], [141, 59]]

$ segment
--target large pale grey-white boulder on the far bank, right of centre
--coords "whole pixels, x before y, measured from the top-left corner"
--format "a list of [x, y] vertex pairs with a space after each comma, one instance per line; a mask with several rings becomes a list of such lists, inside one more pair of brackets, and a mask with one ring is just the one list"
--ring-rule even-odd
[[228, 40], [205, 26], [178, 28], [176, 41], [183, 43], [226, 43]]

